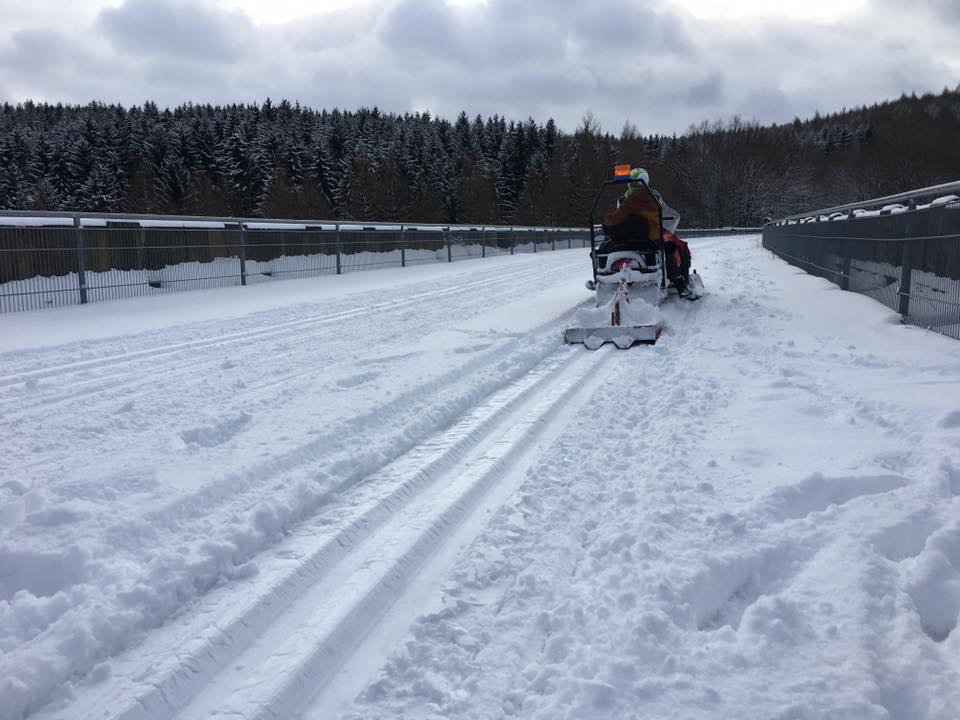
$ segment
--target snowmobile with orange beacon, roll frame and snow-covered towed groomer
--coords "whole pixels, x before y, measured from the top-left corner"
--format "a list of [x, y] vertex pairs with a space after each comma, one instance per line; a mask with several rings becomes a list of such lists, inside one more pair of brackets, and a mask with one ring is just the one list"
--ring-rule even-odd
[[[567, 343], [583, 343], [595, 350], [612, 342], [625, 349], [635, 343], [653, 344], [660, 337], [659, 306], [671, 286], [663, 231], [674, 232], [680, 216], [650, 188], [645, 175], [631, 174], [629, 166], [617, 166], [614, 178], [597, 191], [589, 218], [593, 279], [586, 282], [587, 289], [596, 293], [596, 303], [594, 308], [578, 311], [574, 325], [564, 331]], [[646, 218], [630, 215], [617, 228], [602, 226], [598, 233], [594, 213], [601, 196], [608, 187], [624, 183], [633, 183], [633, 192], [645, 193], [646, 206], [656, 210]], [[702, 287], [694, 270], [686, 297], [697, 299]]]

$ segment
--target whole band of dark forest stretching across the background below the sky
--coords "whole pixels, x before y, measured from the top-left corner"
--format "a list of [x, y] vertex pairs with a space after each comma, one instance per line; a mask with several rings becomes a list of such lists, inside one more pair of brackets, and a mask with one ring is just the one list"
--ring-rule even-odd
[[499, 115], [253, 105], [0, 108], [0, 208], [583, 225], [616, 163], [683, 226], [769, 218], [960, 179], [960, 87], [783, 125], [572, 132]]

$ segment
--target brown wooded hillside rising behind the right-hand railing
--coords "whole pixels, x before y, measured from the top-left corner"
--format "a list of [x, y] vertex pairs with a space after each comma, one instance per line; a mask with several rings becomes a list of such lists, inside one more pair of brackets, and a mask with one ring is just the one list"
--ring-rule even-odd
[[687, 219], [705, 225], [960, 180], [960, 87], [788, 125], [704, 123], [650, 164], [674, 184]]

